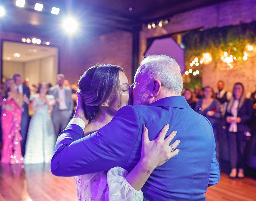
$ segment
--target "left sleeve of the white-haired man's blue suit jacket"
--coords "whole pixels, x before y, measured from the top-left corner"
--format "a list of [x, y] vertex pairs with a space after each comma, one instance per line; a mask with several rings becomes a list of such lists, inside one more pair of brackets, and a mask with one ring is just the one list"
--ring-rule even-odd
[[139, 131], [140, 118], [132, 106], [121, 108], [109, 124], [86, 137], [80, 126], [69, 125], [57, 139], [52, 174], [78, 176], [124, 167]]

